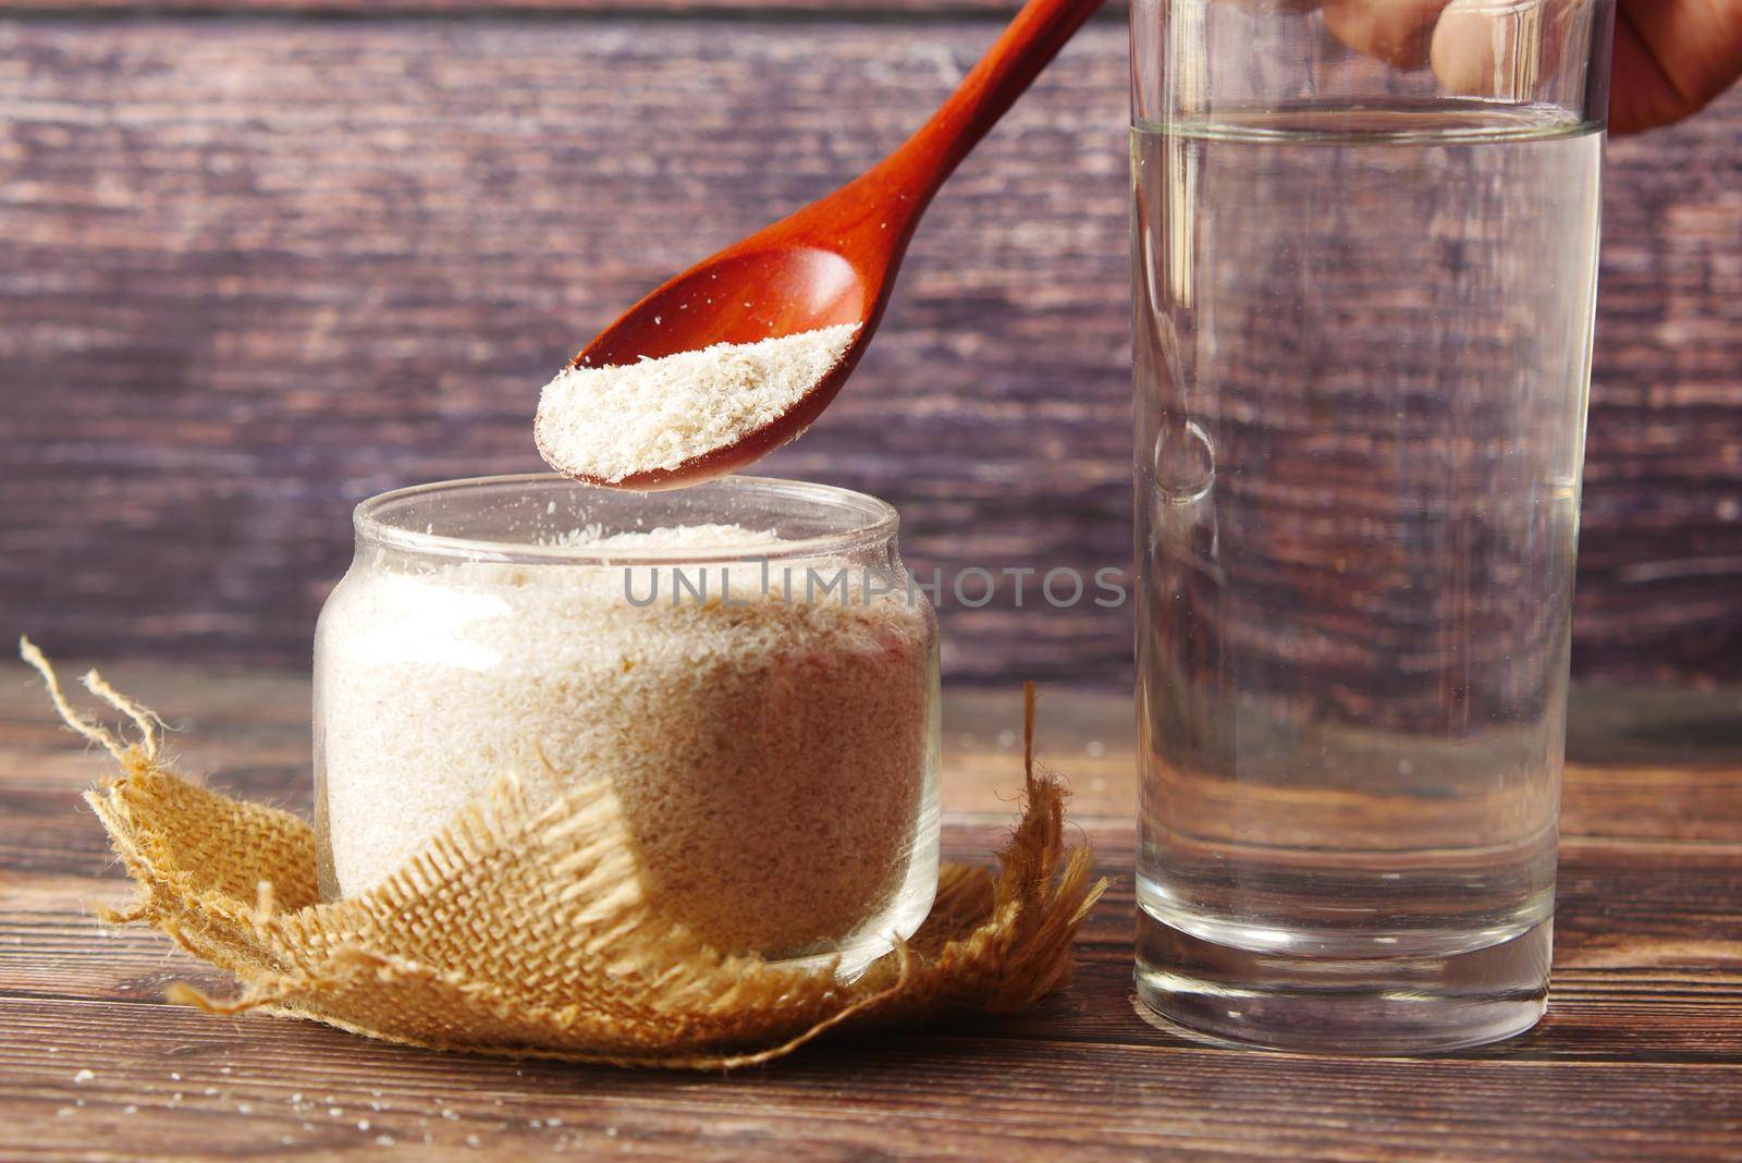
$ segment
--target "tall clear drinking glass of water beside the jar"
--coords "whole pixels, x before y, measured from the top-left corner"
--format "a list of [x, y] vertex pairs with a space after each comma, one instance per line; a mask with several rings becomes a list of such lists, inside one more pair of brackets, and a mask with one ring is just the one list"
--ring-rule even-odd
[[1543, 1013], [1613, 0], [1134, 0], [1138, 991]]

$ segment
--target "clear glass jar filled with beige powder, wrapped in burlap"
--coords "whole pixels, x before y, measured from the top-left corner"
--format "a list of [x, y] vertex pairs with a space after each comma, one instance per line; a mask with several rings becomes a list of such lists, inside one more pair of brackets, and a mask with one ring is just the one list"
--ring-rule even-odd
[[895, 510], [730, 477], [385, 493], [315, 632], [327, 898], [401, 867], [502, 776], [608, 782], [641, 888], [726, 952], [841, 958], [937, 884], [937, 618]]

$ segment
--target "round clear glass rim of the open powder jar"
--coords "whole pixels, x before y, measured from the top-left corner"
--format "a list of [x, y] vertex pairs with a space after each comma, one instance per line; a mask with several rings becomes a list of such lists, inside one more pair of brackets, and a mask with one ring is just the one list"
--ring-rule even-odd
[[[770, 536], [760, 541], [733, 541], [732, 545], [672, 545], [672, 547], [587, 547], [587, 545], [540, 545], [530, 540], [477, 538], [436, 533], [434, 528], [409, 528], [394, 522], [394, 512], [411, 508], [418, 501], [442, 496], [463, 498], [490, 491], [519, 489], [524, 498], [538, 493], [554, 496], [556, 493], [610, 498], [652, 498], [690, 496], [702, 491], [725, 494], [726, 500], [760, 500], [768, 503], [770, 514], [787, 512], [791, 515], [838, 517], [838, 529], [800, 538]], [[540, 498], [544, 501], [545, 498]], [[721, 505], [725, 507], [725, 505]], [[533, 512], [533, 507], [528, 507]], [[685, 524], [683, 521], [653, 521], [658, 524]], [[730, 512], [707, 519], [692, 514], [688, 524], [735, 524]], [[432, 481], [401, 489], [378, 493], [361, 501], [352, 510], [352, 526], [359, 541], [397, 548], [411, 554], [432, 557], [453, 557], [462, 561], [491, 561], [517, 564], [568, 564], [568, 566], [624, 566], [624, 564], [669, 564], [669, 562], [728, 562], [728, 561], [777, 561], [800, 557], [827, 557], [850, 554], [869, 545], [888, 541], [895, 536], [901, 515], [888, 501], [881, 501], [869, 493], [857, 493], [833, 484], [815, 484], [810, 481], [784, 481], [780, 477], [719, 477], [688, 489], [671, 489], [667, 493], [639, 493], [629, 489], [610, 489], [603, 486], [582, 484], [554, 472], [505, 474], [493, 477], [460, 477], [455, 481]]]

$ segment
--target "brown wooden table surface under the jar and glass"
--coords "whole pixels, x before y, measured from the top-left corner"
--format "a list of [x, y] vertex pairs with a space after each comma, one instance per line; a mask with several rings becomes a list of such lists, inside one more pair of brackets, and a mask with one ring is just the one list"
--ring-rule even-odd
[[[186, 771], [307, 810], [305, 677], [110, 677], [179, 728]], [[167, 982], [221, 980], [155, 931], [98, 924], [127, 895], [77, 797], [101, 756], [0, 669], [0, 1156], [1742, 1158], [1742, 693], [1577, 696], [1549, 1017], [1435, 1059], [1228, 1048], [1138, 1013], [1129, 717], [1113, 695], [1043, 693], [1042, 754], [1115, 879], [1070, 992], [695, 1076], [165, 1005]], [[955, 858], [1010, 818], [1016, 728], [1014, 691], [949, 700]]]

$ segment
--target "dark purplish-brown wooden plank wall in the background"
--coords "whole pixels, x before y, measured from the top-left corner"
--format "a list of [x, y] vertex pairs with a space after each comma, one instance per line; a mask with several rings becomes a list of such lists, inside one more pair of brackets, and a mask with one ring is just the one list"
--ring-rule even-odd
[[[0, 3], [0, 613], [303, 665], [380, 489], [537, 468], [547, 374], [892, 148], [1009, 0]], [[909, 564], [1129, 561], [1125, 33], [962, 169], [772, 468]], [[1611, 150], [1577, 665], [1742, 677], [1742, 94]], [[948, 608], [956, 679], [1129, 681], [1127, 611]]]

